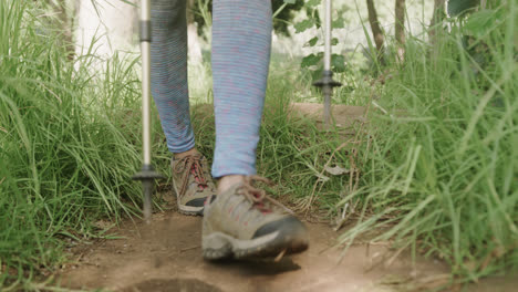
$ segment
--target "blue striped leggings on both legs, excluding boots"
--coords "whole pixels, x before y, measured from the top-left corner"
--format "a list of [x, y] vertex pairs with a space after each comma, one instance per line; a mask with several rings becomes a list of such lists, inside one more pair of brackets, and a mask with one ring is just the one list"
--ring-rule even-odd
[[[195, 146], [187, 85], [186, 0], [152, 0], [152, 93], [167, 146]], [[214, 0], [213, 176], [256, 174], [271, 46], [271, 0]]]

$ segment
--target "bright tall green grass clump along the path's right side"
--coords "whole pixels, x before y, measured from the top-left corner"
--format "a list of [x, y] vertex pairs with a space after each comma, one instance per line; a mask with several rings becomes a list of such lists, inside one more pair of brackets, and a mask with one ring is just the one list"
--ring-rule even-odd
[[408, 38], [404, 66], [387, 64], [374, 93], [390, 115], [372, 117], [362, 187], [341, 202], [362, 201], [360, 220], [341, 242], [383, 227], [373, 241], [444, 259], [459, 282], [518, 267], [517, 12], [505, 1], [453, 23], [437, 55]]

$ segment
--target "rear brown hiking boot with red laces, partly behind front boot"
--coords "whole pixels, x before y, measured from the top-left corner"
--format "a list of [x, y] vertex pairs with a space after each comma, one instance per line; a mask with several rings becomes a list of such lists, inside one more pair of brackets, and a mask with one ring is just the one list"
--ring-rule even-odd
[[216, 195], [207, 159], [201, 155], [173, 158], [173, 189], [178, 210], [184, 215], [203, 215], [207, 197]]

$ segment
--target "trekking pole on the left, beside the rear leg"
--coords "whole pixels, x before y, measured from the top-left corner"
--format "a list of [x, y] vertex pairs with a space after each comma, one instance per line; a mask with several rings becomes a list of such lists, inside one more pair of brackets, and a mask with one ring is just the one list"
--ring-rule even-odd
[[141, 2], [141, 53], [142, 53], [142, 147], [143, 165], [133, 179], [142, 181], [144, 196], [144, 219], [151, 222], [152, 195], [155, 179], [164, 178], [152, 165], [151, 152], [151, 1]]

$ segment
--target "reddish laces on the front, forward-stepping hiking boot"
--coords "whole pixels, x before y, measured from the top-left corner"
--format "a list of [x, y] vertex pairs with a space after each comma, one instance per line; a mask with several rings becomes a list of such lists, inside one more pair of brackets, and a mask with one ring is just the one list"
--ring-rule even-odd
[[267, 202], [276, 205], [289, 213], [293, 213], [292, 210], [290, 210], [288, 207], [286, 207], [278, 200], [268, 197], [263, 189], [256, 188], [253, 186], [255, 181], [261, 181], [269, 186], [272, 185], [272, 182], [268, 178], [265, 178], [265, 177], [260, 177], [260, 176], [245, 177], [245, 181], [238, 188], [238, 190], [241, 191], [245, 198], [247, 198], [252, 204], [252, 206], [257, 207], [261, 212], [271, 212], [271, 208], [269, 208], [267, 204], [265, 204], [265, 200], [266, 200]]

